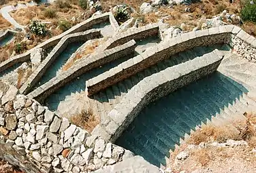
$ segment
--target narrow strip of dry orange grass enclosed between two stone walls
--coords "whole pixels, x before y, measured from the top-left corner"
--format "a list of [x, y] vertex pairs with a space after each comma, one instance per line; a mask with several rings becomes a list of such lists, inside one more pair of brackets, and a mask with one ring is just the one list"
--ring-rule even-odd
[[69, 62], [67, 62], [64, 66], [63, 66], [63, 71], [67, 71], [67, 69], [69, 69], [71, 66], [73, 66], [75, 64], [75, 62], [77, 60], [79, 60], [80, 58], [91, 54], [95, 51], [95, 49], [99, 46], [100, 41], [94, 41], [91, 45], [87, 46], [82, 52], [76, 54], [76, 56], [74, 58], [72, 58]]

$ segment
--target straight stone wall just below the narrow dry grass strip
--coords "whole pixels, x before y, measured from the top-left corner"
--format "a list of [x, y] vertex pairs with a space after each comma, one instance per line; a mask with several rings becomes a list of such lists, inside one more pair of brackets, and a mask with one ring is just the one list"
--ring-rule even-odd
[[39, 101], [44, 100], [52, 92], [58, 90], [61, 88], [61, 86], [65, 85], [65, 83], [68, 83], [74, 78], [123, 56], [132, 56], [134, 51], [135, 41], [131, 40], [124, 45], [120, 45], [110, 50], [106, 50], [105, 52], [101, 52], [101, 54], [98, 54], [97, 56], [89, 56], [81, 63], [79, 63], [78, 66], [71, 66], [70, 69], [60, 73], [57, 77], [54, 77], [47, 83], [44, 83], [44, 85], [28, 94], [28, 96], [29, 98], [35, 98]]

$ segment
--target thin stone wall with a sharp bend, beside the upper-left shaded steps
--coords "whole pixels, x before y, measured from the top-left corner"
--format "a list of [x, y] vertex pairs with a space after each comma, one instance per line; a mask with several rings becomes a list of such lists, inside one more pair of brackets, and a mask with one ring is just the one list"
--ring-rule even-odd
[[27, 94], [31, 88], [39, 81], [39, 79], [44, 75], [49, 66], [56, 60], [56, 58], [65, 50], [69, 43], [76, 41], [87, 41], [89, 39], [95, 39], [101, 37], [99, 29], [91, 29], [89, 31], [84, 31], [82, 33], [74, 33], [66, 35], [59, 41], [59, 43], [54, 47], [52, 52], [48, 54], [46, 59], [37, 67], [37, 69], [29, 76], [29, 79], [20, 88], [20, 93]]

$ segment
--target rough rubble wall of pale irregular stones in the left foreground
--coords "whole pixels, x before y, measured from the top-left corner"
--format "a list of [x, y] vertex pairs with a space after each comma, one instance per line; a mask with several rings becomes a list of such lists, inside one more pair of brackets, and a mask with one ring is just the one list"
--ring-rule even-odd
[[91, 172], [133, 153], [71, 124], [0, 81], [0, 157], [25, 172]]

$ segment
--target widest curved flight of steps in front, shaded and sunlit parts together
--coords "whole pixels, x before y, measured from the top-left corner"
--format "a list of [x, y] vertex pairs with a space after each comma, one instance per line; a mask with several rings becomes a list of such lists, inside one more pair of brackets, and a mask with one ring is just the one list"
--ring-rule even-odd
[[[205, 54], [209, 49], [197, 47], [186, 54]], [[165, 165], [170, 150], [199, 126], [228, 123], [234, 128], [231, 121], [244, 119], [245, 112], [256, 111], [252, 97], [256, 64], [231, 53], [227, 45], [219, 49], [225, 57], [216, 73], [148, 104], [116, 145], [142, 155], [151, 164]]]

